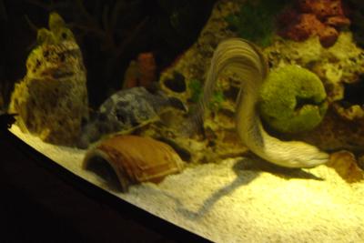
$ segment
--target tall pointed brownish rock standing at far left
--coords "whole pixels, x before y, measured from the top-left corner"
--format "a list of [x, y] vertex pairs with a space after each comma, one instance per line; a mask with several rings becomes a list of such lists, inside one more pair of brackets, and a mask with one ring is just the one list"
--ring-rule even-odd
[[15, 85], [9, 111], [19, 115], [23, 131], [73, 146], [88, 119], [86, 68], [63, 19], [52, 13], [49, 27], [38, 31], [38, 46], [26, 60], [26, 76]]

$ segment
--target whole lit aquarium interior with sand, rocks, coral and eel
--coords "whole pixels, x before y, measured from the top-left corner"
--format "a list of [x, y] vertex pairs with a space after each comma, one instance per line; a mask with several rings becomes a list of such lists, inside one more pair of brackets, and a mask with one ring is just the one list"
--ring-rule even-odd
[[211, 241], [364, 241], [362, 1], [5, 0], [0, 21], [1, 116], [54, 163]]

